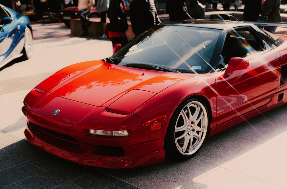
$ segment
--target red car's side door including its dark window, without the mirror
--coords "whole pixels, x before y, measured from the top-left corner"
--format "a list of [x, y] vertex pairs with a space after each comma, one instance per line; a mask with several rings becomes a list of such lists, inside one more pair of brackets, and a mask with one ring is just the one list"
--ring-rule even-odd
[[232, 57], [242, 57], [249, 61], [249, 67], [230, 75], [218, 72], [217, 125], [266, 105], [272, 98], [279, 84], [281, 57], [276, 49], [264, 48], [264, 40], [251, 27], [227, 33], [221, 52], [225, 64]]

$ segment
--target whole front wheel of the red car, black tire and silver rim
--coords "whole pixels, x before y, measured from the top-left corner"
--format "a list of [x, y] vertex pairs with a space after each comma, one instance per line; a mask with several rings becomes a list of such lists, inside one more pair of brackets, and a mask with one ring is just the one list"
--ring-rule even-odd
[[206, 105], [190, 98], [174, 111], [165, 137], [166, 157], [185, 160], [193, 157], [201, 148], [209, 132]]

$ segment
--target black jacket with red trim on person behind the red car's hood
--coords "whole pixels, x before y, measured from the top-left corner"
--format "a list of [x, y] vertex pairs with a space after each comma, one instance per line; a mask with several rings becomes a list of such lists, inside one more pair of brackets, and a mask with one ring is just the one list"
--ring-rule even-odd
[[125, 14], [125, 3], [122, 0], [111, 0], [108, 8], [108, 18], [110, 24], [109, 31], [122, 32], [127, 31], [127, 17]]

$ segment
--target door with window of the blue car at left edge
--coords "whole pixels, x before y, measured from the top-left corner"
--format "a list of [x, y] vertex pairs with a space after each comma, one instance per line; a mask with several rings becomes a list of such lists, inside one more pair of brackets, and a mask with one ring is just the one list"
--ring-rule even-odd
[[10, 15], [5, 8], [0, 6], [0, 19], [2, 20], [0, 23], [0, 56], [4, 55], [7, 51], [12, 52], [12, 50], [15, 48], [13, 45], [13, 40], [17, 33], [18, 26], [17, 22], [15, 21], [7, 21], [11, 18], [12, 15]]

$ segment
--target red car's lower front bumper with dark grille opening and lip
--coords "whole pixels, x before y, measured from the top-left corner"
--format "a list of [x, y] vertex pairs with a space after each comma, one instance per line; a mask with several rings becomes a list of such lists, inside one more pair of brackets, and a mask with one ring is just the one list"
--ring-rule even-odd
[[115, 139], [111, 139], [111, 143], [109, 143], [109, 139], [105, 137], [66, 135], [30, 121], [27, 123], [24, 134], [28, 141], [36, 147], [86, 166], [113, 169], [133, 168], [163, 162], [165, 157], [164, 139], [115, 147], [113, 145], [115, 141], [112, 141]]

